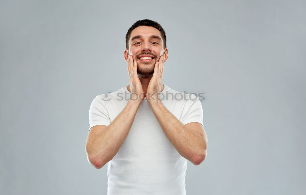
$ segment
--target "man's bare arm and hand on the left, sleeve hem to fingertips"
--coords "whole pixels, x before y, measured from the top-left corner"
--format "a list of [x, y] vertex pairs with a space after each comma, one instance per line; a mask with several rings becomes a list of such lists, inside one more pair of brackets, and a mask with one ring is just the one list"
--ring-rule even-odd
[[[137, 76], [137, 63], [128, 55], [131, 99], [109, 126], [93, 126], [88, 134], [85, 150], [88, 161], [97, 169], [114, 158], [128, 136], [136, 113], [144, 99], [144, 91]], [[91, 132], [91, 133], [90, 133]]]

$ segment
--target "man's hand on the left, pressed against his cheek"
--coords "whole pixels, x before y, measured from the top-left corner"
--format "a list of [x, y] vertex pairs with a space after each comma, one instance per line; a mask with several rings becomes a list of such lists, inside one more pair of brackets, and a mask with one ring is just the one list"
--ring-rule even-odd
[[133, 60], [133, 56], [128, 56], [128, 71], [129, 71], [129, 84], [132, 93], [132, 100], [144, 100], [146, 93], [142, 89], [141, 82], [137, 74], [137, 62]]

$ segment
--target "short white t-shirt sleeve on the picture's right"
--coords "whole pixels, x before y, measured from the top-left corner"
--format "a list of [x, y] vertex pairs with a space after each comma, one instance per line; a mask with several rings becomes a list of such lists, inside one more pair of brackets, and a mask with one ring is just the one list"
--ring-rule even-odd
[[203, 127], [203, 108], [199, 97], [193, 95], [193, 98], [187, 100], [186, 105], [187, 112], [183, 118], [183, 125], [186, 125], [189, 122], [198, 122]]

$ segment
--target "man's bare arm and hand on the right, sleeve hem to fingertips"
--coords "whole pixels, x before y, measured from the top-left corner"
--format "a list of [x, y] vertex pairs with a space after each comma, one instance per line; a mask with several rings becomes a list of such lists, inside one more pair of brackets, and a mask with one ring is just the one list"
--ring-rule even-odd
[[200, 123], [196, 124], [197, 122], [183, 125], [158, 99], [158, 93], [162, 88], [165, 58], [163, 55], [155, 63], [153, 77], [147, 89], [147, 100], [159, 125], [177, 152], [194, 165], [199, 165], [207, 154], [207, 137], [203, 126]]

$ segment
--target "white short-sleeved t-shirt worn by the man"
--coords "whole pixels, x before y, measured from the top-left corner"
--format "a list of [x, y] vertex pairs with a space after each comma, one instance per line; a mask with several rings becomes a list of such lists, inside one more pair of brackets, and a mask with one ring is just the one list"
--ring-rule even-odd
[[[89, 109], [89, 129], [110, 125], [126, 106], [130, 94], [125, 86], [96, 96]], [[164, 84], [159, 98], [184, 125], [189, 122], [203, 125], [202, 105], [196, 95], [175, 91]], [[144, 99], [128, 136], [107, 163], [107, 194], [185, 195], [186, 169], [187, 159], [168, 140]]]

